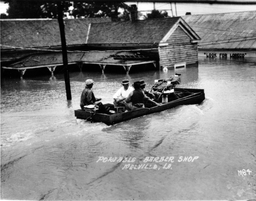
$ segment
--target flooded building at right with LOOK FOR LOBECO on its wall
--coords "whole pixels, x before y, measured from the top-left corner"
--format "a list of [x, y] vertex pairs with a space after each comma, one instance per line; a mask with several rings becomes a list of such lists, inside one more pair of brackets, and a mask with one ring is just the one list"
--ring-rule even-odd
[[256, 57], [256, 11], [183, 18], [202, 39], [198, 43], [200, 57], [231, 60]]

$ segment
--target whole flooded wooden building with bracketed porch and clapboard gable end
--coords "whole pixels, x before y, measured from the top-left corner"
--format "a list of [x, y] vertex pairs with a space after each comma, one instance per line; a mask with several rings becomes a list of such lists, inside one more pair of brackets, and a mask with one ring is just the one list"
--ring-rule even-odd
[[[66, 19], [69, 64], [131, 67], [154, 64], [178, 67], [198, 64], [200, 38], [181, 18], [111, 22], [110, 18]], [[1, 20], [1, 67], [47, 67], [52, 73], [62, 66], [58, 21]]]

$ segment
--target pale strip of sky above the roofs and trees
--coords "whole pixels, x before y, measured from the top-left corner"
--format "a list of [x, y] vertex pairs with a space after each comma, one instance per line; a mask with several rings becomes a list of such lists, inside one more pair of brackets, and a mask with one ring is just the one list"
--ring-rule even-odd
[[[146, 15], [146, 12], [154, 9], [152, 2], [126, 2], [126, 4], [136, 4], [138, 11]], [[5, 13], [8, 8], [8, 4], [0, 1], [0, 13]], [[155, 3], [156, 10], [167, 10], [169, 16], [183, 16], [186, 12], [190, 12], [192, 15], [198, 14], [211, 14], [211, 13], [227, 13], [227, 12], [242, 12], [242, 11], [256, 11], [256, 5], [229, 5], [229, 4], [199, 4], [199, 3], [172, 3], [172, 11], [170, 3]]]

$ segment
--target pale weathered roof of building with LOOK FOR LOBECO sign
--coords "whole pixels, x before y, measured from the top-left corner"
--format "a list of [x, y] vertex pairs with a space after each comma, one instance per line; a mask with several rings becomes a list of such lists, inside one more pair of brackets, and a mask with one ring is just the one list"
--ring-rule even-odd
[[256, 48], [256, 11], [186, 15], [183, 19], [202, 39], [198, 48]]

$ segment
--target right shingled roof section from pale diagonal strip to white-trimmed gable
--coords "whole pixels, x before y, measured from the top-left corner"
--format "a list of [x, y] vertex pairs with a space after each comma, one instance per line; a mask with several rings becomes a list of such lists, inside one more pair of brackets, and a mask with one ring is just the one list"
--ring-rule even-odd
[[[188, 26], [181, 17], [92, 24], [87, 44], [159, 44], [177, 24]], [[199, 39], [191, 28], [190, 31], [192, 38]]]

